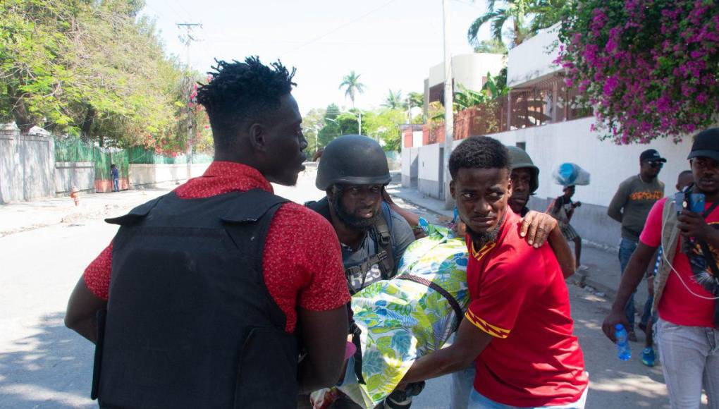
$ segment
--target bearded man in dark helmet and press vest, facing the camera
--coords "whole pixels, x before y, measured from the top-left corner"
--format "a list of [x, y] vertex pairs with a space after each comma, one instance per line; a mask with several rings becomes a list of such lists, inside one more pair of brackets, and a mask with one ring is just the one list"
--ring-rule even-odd
[[[383, 201], [383, 190], [390, 180], [384, 150], [375, 140], [362, 135], [334, 139], [324, 148], [317, 167], [315, 185], [326, 196], [306, 206], [334, 227], [342, 248], [347, 286], [353, 295], [372, 282], [394, 277], [405, 249], [414, 241], [407, 221]], [[359, 343], [358, 334], [354, 335]], [[359, 359], [361, 355], [355, 355], [354, 372], [363, 382]], [[411, 401], [411, 397], [402, 398]], [[303, 400], [301, 397], [299, 407], [305, 407]], [[341, 396], [332, 407], [358, 406]], [[390, 405], [385, 403], [385, 407]]]

